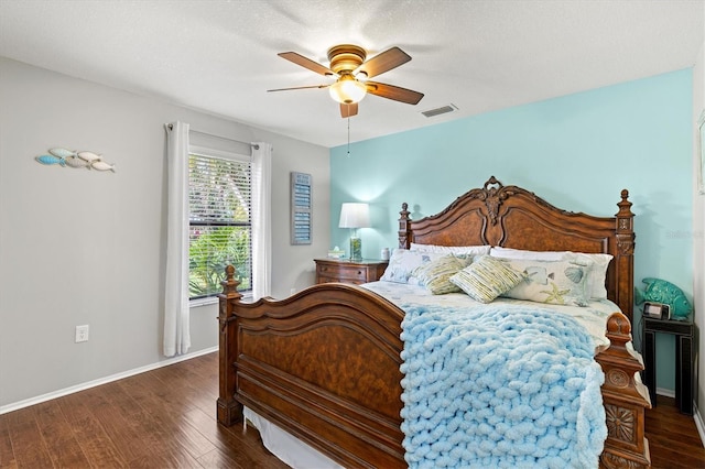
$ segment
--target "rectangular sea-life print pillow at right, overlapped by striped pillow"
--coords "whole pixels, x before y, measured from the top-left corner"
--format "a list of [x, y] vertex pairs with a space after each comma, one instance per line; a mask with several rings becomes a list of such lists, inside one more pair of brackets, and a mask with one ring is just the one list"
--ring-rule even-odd
[[[501, 260], [501, 258], [492, 258]], [[592, 262], [505, 259], [524, 280], [501, 296], [554, 305], [587, 306]]]

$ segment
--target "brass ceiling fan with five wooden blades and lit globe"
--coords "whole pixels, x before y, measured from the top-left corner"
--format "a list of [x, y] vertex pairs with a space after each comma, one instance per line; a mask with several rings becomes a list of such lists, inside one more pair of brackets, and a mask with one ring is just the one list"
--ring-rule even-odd
[[340, 116], [343, 118], [356, 116], [358, 102], [365, 98], [368, 92], [409, 105], [415, 105], [423, 98], [422, 92], [369, 80], [369, 78], [381, 75], [411, 61], [411, 56], [399, 47], [389, 48], [365, 62], [367, 52], [362, 47], [351, 44], [335, 45], [328, 50], [329, 67], [321, 65], [295, 52], [282, 52], [278, 55], [319, 75], [334, 77], [336, 80], [328, 85], [279, 88], [269, 89], [268, 91], [328, 88], [330, 97], [340, 103]]

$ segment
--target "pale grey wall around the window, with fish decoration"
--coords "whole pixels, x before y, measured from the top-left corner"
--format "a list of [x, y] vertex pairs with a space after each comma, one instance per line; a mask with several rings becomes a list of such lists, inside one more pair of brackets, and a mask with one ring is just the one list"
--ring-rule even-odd
[[[0, 57], [0, 412], [164, 360], [164, 123], [273, 144], [272, 295], [313, 284], [329, 244], [328, 150]], [[117, 173], [43, 166], [89, 150]], [[312, 246], [290, 246], [289, 177], [314, 181]], [[192, 309], [192, 352], [217, 346]], [[90, 340], [74, 343], [77, 325]]]

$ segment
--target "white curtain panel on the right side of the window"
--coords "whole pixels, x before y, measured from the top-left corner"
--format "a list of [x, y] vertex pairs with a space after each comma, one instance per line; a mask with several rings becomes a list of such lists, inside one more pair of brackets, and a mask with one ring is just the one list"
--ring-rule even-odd
[[272, 290], [272, 145], [257, 142], [252, 148], [252, 297], [271, 295]]

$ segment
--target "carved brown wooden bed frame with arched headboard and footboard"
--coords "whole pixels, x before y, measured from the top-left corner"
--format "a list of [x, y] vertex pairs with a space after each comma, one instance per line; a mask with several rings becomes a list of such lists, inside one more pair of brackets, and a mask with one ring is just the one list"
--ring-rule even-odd
[[[558, 209], [492, 176], [431, 217], [411, 220], [403, 204], [399, 219], [400, 248], [490, 244], [615, 257], [607, 292], [623, 314], [609, 317], [611, 345], [595, 357], [605, 371], [605, 468], [650, 467], [644, 410], [651, 403], [636, 378], [641, 358], [626, 347], [634, 248], [628, 196], [621, 192], [615, 217], [593, 217]], [[243, 303], [235, 269], [228, 266], [226, 274], [219, 296], [218, 422], [240, 422], [246, 405], [345, 467], [406, 467], [399, 416], [404, 313], [341, 283], [314, 285], [282, 301]]]

